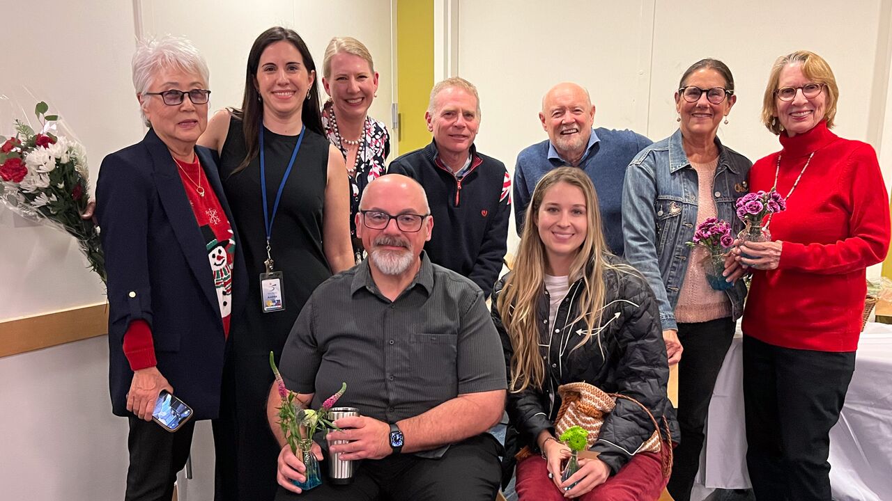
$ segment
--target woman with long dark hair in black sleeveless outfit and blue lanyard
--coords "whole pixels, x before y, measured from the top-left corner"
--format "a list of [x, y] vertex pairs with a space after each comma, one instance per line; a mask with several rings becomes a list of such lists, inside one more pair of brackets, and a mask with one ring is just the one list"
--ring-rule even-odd
[[264, 31], [248, 54], [242, 108], [216, 113], [200, 140], [219, 152], [251, 277], [227, 361], [229, 425], [215, 437], [218, 499], [275, 496], [269, 352], [278, 360], [316, 286], [353, 266], [347, 171], [324, 134], [310, 50], [292, 29]]

